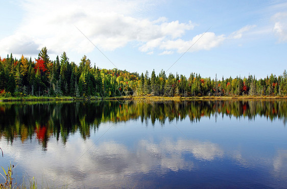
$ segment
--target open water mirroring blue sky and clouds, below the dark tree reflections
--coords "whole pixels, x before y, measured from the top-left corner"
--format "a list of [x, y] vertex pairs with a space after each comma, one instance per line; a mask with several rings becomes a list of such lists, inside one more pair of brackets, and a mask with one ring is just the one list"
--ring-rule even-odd
[[139, 116], [89, 125], [89, 134], [83, 137], [76, 129], [65, 141], [57, 139], [56, 131], [46, 132], [45, 148], [36, 133], [26, 139], [15, 136], [13, 141], [2, 134], [1, 166], [11, 161], [18, 183], [34, 176], [39, 187], [287, 186], [287, 129], [282, 119], [218, 113], [199, 121], [179, 116], [153, 124], [151, 118], [142, 122]]

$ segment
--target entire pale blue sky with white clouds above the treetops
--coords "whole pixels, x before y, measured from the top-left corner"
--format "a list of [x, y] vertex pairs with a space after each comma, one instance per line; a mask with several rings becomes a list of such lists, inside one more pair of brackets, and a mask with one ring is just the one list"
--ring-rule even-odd
[[14, 0], [1, 5], [2, 58], [11, 52], [37, 58], [46, 46], [52, 60], [65, 51], [70, 62], [78, 64], [86, 55], [100, 68], [139, 73], [163, 69], [187, 77], [196, 72], [260, 78], [287, 68], [286, 1]]

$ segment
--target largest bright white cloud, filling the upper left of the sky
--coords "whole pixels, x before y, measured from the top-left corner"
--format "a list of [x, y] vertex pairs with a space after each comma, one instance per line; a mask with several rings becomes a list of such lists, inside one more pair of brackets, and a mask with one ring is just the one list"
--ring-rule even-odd
[[21, 4], [26, 11], [25, 17], [19, 32], [0, 40], [2, 52], [22, 53], [22, 47], [28, 45], [28, 49], [33, 47], [29, 51], [35, 53], [43, 46], [56, 53], [64, 50], [87, 53], [94, 46], [85, 36], [104, 50], [114, 50], [136, 41], [141, 44], [139, 49], [146, 52], [146, 48], [151, 48], [151, 41], [179, 38], [194, 28], [190, 21], [168, 22], [165, 17], [149, 20], [134, 16], [154, 6], [148, 0], [85, 0], [81, 3], [27, 0]]

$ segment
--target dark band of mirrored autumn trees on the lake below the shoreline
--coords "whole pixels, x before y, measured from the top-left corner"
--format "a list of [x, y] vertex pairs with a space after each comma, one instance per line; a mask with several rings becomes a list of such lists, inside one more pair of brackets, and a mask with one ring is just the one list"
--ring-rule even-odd
[[77, 102], [2, 102], [0, 103], [0, 137], [11, 144], [16, 138], [22, 142], [33, 136], [45, 150], [53, 136], [65, 144], [69, 135], [80, 132], [86, 140], [92, 130], [102, 122], [123, 122], [139, 120], [152, 124], [159, 121], [200, 121], [202, 117], [236, 117], [255, 119], [266, 117], [286, 123], [286, 100], [216, 100], [180, 101], [171, 103], [127, 104], [118, 101], [77, 101]]

